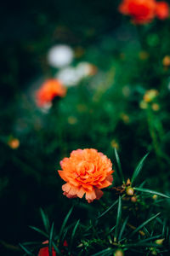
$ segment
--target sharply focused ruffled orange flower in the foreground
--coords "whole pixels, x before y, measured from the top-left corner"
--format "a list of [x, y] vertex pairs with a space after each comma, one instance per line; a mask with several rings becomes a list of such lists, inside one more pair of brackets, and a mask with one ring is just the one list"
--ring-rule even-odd
[[113, 177], [111, 160], [93, 148], [72, 151], [70, 158], [60, 161], [63, 169], [59, 176], [65, 180], [64, 195], [75, 198], [86, 195], [88, 203], [99, 199], [104, 189], [111, 185]]

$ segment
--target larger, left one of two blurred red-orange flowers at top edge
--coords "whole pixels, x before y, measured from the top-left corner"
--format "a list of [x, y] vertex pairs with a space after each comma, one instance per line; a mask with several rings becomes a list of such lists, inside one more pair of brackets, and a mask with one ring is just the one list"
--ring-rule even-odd
[[155, 0], [122, 0], [119, 11], [132, 16], [135, 24], [149, 23], [155, 17]]

